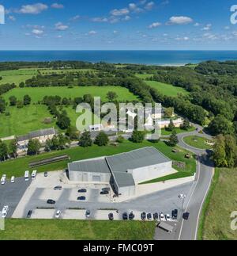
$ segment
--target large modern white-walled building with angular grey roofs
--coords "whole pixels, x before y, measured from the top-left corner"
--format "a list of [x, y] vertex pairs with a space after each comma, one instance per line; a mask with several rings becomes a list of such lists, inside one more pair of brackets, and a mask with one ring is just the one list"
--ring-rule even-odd
[[68, 164], [70, 181], [108, 183], [118, 196], [133, 196], [144, 181], [171, 174], [172, 161], [155, 147]]

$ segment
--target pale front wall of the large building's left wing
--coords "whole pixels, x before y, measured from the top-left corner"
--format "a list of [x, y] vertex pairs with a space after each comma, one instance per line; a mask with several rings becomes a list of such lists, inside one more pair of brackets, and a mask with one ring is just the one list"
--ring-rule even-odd
[[109, 183], [111, 174], [107, 173], [90, 173], [81, 171], [69, 171], [70, 181], [92, 182], [92, 183]]

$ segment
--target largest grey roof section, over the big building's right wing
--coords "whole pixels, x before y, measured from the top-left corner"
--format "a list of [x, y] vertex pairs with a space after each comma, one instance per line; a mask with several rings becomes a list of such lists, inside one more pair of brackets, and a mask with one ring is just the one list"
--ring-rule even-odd
[[106, 159], [113, 172], [127, 172], [127, 170], [171, 161], [155, 147], [143, 147], [128, 153], [108, 156]]

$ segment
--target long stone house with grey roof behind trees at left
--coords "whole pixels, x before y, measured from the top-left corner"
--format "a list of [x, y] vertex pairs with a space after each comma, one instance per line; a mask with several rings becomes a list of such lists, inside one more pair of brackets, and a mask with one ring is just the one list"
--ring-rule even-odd
[[17, 136], [17, 153], [25, 152], [28, 149], [28, 141], [30, 139], [39, 139], [41, 144], [46, 143], [47, 139], [52, 139], [57, 132], [55, 128], [41, 129], [35, 132], [29, 132], [24, 136]]

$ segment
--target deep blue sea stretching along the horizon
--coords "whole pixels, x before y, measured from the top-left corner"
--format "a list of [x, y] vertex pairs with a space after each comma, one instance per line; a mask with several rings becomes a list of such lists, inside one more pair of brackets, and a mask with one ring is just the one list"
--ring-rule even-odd
[[0, 62], [54, 60], [182, 66], [206, 60], [237, 60], [237, 51], [0, 51]]

